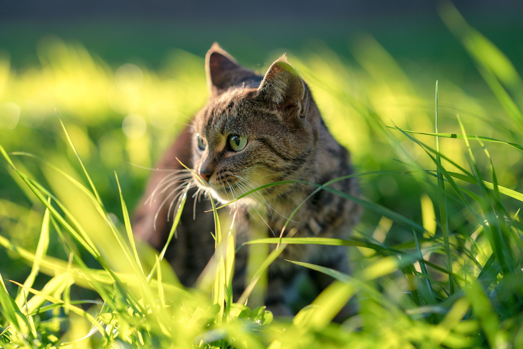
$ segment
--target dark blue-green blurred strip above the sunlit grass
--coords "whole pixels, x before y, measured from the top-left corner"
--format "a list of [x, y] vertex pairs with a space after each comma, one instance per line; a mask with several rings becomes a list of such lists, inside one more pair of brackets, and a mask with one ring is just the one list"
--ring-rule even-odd
[[[321, 40], [350, 57], [351, 43], [370, 34], [400, 62], [443, 60], [453, 65], [464, 50], [442, 24], [437, 1], [102, 1], [0, 2], [0, 49], [12, 67], [38, 62], [42, 37], [79, 41], [111, 64], [130, 59], [158, 67], [173, 47], [203, 55], [213, 41], [240, 61], [259, 62], [274, 49], [303, 50]], [[520, 1], [457, 1], [472, 27], [519, 65], [523, 46]], [[408, 62], [407, 62], [408, 63]]]

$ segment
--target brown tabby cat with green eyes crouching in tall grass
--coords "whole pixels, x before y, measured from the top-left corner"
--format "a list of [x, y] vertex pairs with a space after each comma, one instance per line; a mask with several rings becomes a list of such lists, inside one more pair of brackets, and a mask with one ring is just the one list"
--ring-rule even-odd
[[[165, 171], [151, 176], [142, 199], [146, 203], [138, 207], [133, 222], [136, 238], [162, 249], [172, 226], [176, 199], [190, 187], [187, 197], [195, 197], [194, 203], [187, 200], [176, 238], [166, 253], [181, 283], [188, 286], [196, 282], [214, 252], [213, 214], [205, 197], [211, 195], [226, 203], [273, 182], [324, 184], [353, 173], [348, 151], [327, 130], [309, 86], [285, 54], [261, 76], [239, 65], [215, 43], [206, 55], [205, 68], [210, 94], [207, 104], [163, 155], [157, 168]], [[359, 192], [354, 177], [330, 187], [354, 196]], [[238, 240], [249, 239], [249, 220], [252, 222], [243, 207], [265, 206], [269, 234], [279, 236], [291, 212], [315, 188], [304, 183], [277, 185], [236, 202], [241, 216], [237, 234], [243, 237]], [[355, 202], [320, 190], [295, 213], [286, 232], [295, 228], [295, 237], [347, 238], [360, 213]], [[236, 256], [235, 298], [245, 286], [245, 251], [240, 249]], [[268, 271], [265, 305], [275, 315], [299, 310], [291, 288], [296, 287], [300, 275], [308, 274], [313, 297], [332, 282], [326, 275], [285, 259], [348, 272], [346, 247], [287, 245]]]

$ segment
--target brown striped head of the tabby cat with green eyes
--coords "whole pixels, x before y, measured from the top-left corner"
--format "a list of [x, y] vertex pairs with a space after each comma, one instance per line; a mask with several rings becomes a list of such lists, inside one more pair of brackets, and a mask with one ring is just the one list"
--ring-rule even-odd
[[[195, 183], [228, 202], [261, 185], [307, 178], [320, 117], [286, 55], [260, 76], [214, 44], [206, 71], [210, 97], [192, 124]], [[271, 201], [282, 190], [251, 199]]]

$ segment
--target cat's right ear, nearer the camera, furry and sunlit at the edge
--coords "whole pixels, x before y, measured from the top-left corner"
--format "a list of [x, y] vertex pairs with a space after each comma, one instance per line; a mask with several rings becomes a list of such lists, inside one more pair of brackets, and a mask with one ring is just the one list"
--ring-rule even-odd
[[269, 67], [258, 87], [258, 98], [276, 106], [284, 114], [305, 116], [307, 89], [301, 76], [287, 62], [285, 53]]

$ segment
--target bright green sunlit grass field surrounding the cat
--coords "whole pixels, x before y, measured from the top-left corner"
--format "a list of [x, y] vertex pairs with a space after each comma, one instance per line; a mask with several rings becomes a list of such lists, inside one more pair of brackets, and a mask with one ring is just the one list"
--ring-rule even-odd
[[[284, 238], [265, 252], [246, 306], [228, 297], [224, 215], [216, 266], [189, 289], [162, 255], [139, 254], [129, 223], [144, 167], [207, 98], [203, 58], [113, 67], [57, 38], [30, 69], [0, 55], [0, 346], [523, 347], [523, 80], [455, 9], [441, 17], [481, 80], [404, 69], [365, 35], [351, 61], [322, 43], [288, 52], [353, 155], [365, 214], [350, 240]], [[256, 280], [292, 243], [344, 244], [355, 272], [294, 261], [335, 282], [273, 319]], [[357, 314], [333, 323], [349, 300]]]

